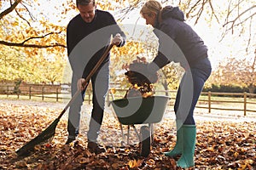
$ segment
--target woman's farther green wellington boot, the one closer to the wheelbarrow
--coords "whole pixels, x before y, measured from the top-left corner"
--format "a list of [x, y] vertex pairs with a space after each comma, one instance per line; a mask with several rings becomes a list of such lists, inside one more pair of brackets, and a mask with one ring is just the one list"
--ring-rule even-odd
[[177, 140], [174, 148], [171, 151], [164, 152], [165, 156], [176, 157], [180, 156], [183, 151], [183, 126], [181, 121], [176, 121]]

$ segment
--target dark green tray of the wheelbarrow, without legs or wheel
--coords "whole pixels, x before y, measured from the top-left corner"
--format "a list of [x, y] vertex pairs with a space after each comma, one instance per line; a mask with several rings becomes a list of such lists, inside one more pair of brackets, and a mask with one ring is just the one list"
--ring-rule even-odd
[[115, 99], [113, 111], [123, 125], [156, 123], [162, 120], [169, 97], [151, 96]]

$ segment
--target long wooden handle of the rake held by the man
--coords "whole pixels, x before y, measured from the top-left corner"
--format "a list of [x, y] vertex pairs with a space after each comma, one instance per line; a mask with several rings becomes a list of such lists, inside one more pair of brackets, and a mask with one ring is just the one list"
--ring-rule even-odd
[[[85, 81], [83, 83], [83, 87], [87, 86], [87, 84], [90, 81], [90, 78], [94, 75], [94, 73], [97, 71], [97, 69], [100, 67], [100, 65], [102, 65], [102, 62], [108, 56], [108, 53], [110, 52], [111, 48], [113, 48], [113, 43], [110, 43], [108, 45], [108, 48], [105, 50], [104, 54], [102, 54], [101, 59], [99, 59], [99, 61], [96, 63], [96, 65], [90, 71], [89, 75], [85, 78]], [[67, 111], [68, 107], [73, 104], [73, 101], [79, 96], [80, 93], [81, 93], [81, 91], [78, 89], [77, 92], [75, 94], [73, 94], [72, 99], [69, 100], [69, 102], [67, 103], [66, 107], [61, 111], [61, 114], [60, 114], [60, 116], [58, 116], [57, 119], [61, 119], [61, 116], [64, 115], [64, 113]]]

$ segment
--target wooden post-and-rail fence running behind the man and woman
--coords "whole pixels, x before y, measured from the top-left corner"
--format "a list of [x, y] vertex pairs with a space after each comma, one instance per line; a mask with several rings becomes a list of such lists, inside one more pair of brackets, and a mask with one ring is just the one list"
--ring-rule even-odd
[[[112, 99], [120, 99], [125, 96], [127, 89], [114, 88], [114, 93], [108, 93], [108, 102]], [[168, 94], [171, 97], [169, 105], [174, 105], [174, 98], [177, 91], [155, 91], [157, 95]], [[39, 98], [39, 99], [54, 99], [60, 101], [61, 99], [71, 99], [69, 86], [27, 86], [26, 88], [19, 88], [15, 90], [14, 86], [0, 86], [0, 94], [6, 95], [6, 97], [27, 97], [27, 99]], [[111, 95], [112, 94], [112, 95]], [[86, 90], [84, 101], [91, 103], [91, 90]], [[221, 107], [224, 105], [225, 107]], [[230, 107], [226, 107], [230, 105]], [[243, 115], [246, 116], [247, 112], [256, 112], [256, 94], [247, 93], [215, 93], [215, 92], [202, 92], [201, 97], [198, 100], [196, 108], [207, 109], [209, 113], [212, 110], [224, 110], [224, 111], [243, 111]]]

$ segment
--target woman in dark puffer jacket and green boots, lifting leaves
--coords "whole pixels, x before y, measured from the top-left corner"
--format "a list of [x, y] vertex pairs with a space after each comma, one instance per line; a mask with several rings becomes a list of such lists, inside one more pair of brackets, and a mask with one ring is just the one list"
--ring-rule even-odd
[[212, 71], [207, 46], [184, 22], [183, 12], [177, 7], [162, 8], [159, 2], [149, 0], [140, 13], [146, 24], [154, 27], [154, 33], [159, 38], [159, 52], [148, 65], [148, 71], [158, 71], [171, 61], [179, 62], [185, 70], [174, 105], [177, 142], [165, 155], [180, 155], [178, 167], [194, 167], [196, 127], [193, 112]]

